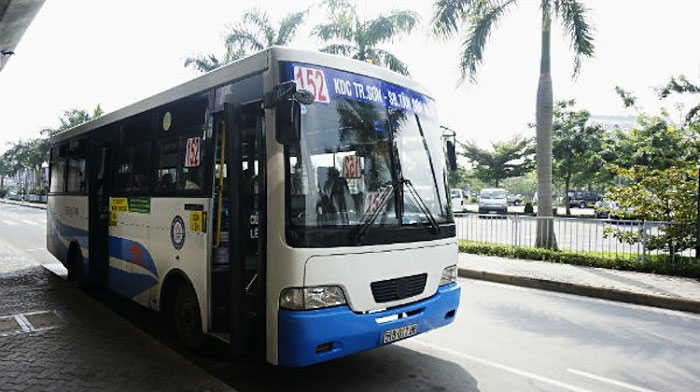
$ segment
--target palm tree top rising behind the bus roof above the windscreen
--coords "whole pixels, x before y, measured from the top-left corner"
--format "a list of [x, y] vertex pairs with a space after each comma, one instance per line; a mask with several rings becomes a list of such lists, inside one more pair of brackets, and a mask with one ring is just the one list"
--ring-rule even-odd
[[401, 34], [408, 34], [418, 24], [413, 11], [393, 11], [375, 19], [360, 19], [355, 6], [346, 0], [327, 0], [327, 23], [316, 26], [311, 35], [330, 44], [322, 52], [339, 54], [356, 60], [382, 65], [408, 75], [408, 66], [390, 52], [377, 45], [391, 42]]

